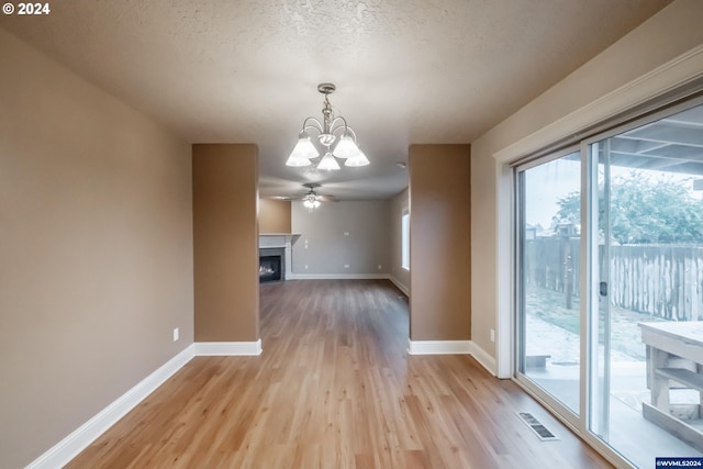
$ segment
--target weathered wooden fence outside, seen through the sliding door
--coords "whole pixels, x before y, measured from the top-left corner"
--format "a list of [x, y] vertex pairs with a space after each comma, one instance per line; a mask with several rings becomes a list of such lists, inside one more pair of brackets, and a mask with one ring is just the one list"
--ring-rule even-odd
[[[579, 297], [580, 244], [573, 237], [525, 242], [527, 284]], [[603, 259], [601, 258], [601, 265]], [[611, 304], [669, 321], [703, 321], [703, 248], [611, 246]]]

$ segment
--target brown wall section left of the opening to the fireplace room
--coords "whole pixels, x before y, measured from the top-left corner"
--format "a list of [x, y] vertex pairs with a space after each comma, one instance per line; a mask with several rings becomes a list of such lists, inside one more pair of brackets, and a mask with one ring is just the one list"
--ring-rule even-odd
[[258, 340], [256, 145], [192, 152], [196, 340]]

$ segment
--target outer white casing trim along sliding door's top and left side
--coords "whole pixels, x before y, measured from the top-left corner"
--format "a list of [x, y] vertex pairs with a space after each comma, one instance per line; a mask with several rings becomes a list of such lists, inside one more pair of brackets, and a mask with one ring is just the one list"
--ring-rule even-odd
[[[502, 148], [492, 152], [495, 163], [495, 306], [496, 306], [496, 344], [494, 372], [499, 378], [513, 379], [516, 362], [514, 360], [514, 271], [515, 258], [513, 221], [515, 206], [513, 165], [537, 154], [545, 154], [548, 148], [583, 142], [595, 133], [602, 133], [613, 125], [627, 122], [635, 116], [641, 116], [652, 110], [660, 109], [683, 98], [691, 98], [694, 93], [703, 93], [703, 45], [698, 45], [676, 57], [671, 57], [644, 75], [635, 76], [631, 81], [612, 88], [605, 94], [592, 101], [566, 110], [558, 119], [535, 126], [525, 132], [517, 139]], [[529, 112], [529, 111], [526, 111]], [[583, 158], [582, 158], [583, 161]], [[585, 201], [582, 199], [582, 203]], [[581, 246], [582, 255], [587, 246]], [[584, 257], [585, 258], [585, 257]], [[582, 277], [587, 278], [587, 277]], [[581, 287], [584, 288], [584, 287]], [[585, 290], [582, 291], [582, 294]], [[588, 298], [588, 297], [585, 297]], [[585, 319], [582, 319], [585, 321]], [[582, 327], [587, 324], [582, 323]], [[584, 339], [582, 335], [582, 340]], [[582, 372], [584, 368], [582, 367]], [[523, 387], [521, 382], [518, 386]], [[584, 420], [577, 425], [562, 418], [551, 406], [538, 395], [525, 388], [555, 416], [571, 427], [584, 442], [603, 455], [615, 466], [626, 465], [625, 460], [600, 438], [590, 434]], [[581, 395], [585, 400], [585, 395]], [[581, 407], [589, 412], [588, 402]]]

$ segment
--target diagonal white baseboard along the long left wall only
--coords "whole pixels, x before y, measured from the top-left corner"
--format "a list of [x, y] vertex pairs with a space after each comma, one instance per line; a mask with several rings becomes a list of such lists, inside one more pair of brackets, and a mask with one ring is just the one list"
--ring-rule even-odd
[[25, 469], [55, 469], [67, 465], [88, 445], [175, 375], [176, 371], [181, 369], [193, 356], [193, 346], [191, 345], [58, 442]]

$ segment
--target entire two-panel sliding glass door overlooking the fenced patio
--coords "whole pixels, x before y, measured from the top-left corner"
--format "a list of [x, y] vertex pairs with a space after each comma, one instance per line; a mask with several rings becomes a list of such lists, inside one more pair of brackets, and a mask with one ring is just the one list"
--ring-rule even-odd
[[703, 104], [514, 175], [516, 380], [635, 466], [703, 457]]

